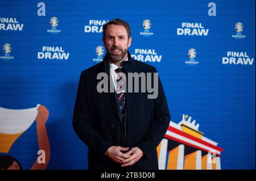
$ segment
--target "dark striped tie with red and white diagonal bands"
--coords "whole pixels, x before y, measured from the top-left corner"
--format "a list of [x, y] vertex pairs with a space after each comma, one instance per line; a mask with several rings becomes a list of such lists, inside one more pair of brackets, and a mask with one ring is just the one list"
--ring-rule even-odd
[[117, 75], [117, 100], [119, 104], [119, 110], [121, 113], [121, 119], [125, 115], [125, 77], [123, 76], [122, 67], [115, 69]]

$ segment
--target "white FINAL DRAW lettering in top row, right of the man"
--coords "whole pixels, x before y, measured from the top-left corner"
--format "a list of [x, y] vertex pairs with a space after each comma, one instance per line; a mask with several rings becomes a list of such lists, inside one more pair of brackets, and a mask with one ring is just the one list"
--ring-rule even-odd
[[204, 28], [202, 23], [181, 23], [181, 28], [177, 28], [177, 35], [185, 36], [208, 36], [209, 29]]

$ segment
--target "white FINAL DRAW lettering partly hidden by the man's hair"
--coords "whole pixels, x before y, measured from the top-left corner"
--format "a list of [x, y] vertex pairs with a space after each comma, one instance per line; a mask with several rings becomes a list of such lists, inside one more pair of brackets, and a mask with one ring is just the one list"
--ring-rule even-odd
[[103, 25], [108, 23], [109, 20], [89, 20], [89, 25], [84, 26], [85, 33], [101, 33], [103, 31]]

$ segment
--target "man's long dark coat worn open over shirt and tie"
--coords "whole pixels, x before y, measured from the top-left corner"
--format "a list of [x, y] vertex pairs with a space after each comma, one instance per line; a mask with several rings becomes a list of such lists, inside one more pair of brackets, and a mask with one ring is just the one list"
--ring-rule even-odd
[[[127, 82], [128, 73], [145, 73], [146, 78], [156, 73], [154, 66], [131, 58], [123, 61]], [[109, 77], [108, 54], [104, 60], [82, 71], [73, 110], [73, 128], [79, 138], [88, 146], [88, 169], [121, 169], [105, 155], [110, 146], [138, 147], [144, 155], [138, 162], [125, 169], [158, 169], [156, 147], [164, 137], [170, 123], [170, 112], [162, 83], [158, 77], [158, 96], [148, 99], [152, 92], [129, 92], [126, 89], [126, 118], [120, 119], [115, 92], [98, 92], [98, 73]], [[153, 78], [151, 77], [151, 82]], [[109, 87], [112, 78], [109, 79]], [[135, 82], [134, 82], [135, 83]], [[133, 87], [134, 87], [133, 83]], [[152, 82], [154, 83], [154, 82]], [[154, 84], [155, 85], [155, 84]], [[141, 87], [141, 85], [140, 85]], [[153, 85], [152, 85], [153, 87]], [[125, 124], [125, 145], [122, 144], [123, 124]]]

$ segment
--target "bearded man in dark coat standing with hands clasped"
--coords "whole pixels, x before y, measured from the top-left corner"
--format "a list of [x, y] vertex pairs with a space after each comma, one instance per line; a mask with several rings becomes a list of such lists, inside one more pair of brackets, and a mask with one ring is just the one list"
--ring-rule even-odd
[[171, 118], [158, 73], [131, 58], [125, 21], [104, 24], [102, 40], [107, 53], [82, 71], [73, 112], [73, 128], [88, 146], [88, 169], [158, 169], [156, 147]]

